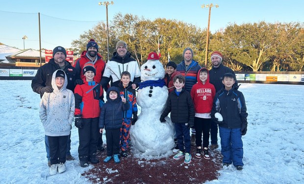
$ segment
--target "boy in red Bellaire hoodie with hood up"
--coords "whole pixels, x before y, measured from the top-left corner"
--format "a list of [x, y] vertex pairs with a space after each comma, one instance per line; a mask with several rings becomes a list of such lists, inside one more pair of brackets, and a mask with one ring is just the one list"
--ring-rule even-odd
[[196, 154], [195, 157], [201, 158], [202, 154], [202, 132], [203, 132], [203, 157], [210, 159], [208, 153], [209, 131], [211, 125], [211, 110], [215, 88], [209, 83], [209, 71], [200, 69], [197, 75], [198, 83], [191, 89], [191, 97], [194, 103], [195, 117], [194, 127], [196, 130]]

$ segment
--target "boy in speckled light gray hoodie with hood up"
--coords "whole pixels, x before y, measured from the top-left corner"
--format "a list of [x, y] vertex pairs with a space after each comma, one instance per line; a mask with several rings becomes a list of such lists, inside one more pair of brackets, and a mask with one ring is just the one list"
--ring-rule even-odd
[[39, 116], [50, 144], [50, 175], [66, 170], [66, 149], [74, 120], [74, 93], [68, 90], [68, 79], [61, 69], [54, 71], [51, 80], [53, 92], [45, 92], [40, 101]]

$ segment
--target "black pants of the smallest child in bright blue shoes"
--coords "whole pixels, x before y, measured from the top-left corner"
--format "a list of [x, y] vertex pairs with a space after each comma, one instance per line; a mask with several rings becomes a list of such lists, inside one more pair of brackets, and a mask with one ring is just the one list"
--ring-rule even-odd
[[120, 128], [105, 130], [106, 153], [110, 157], [119, 154]]

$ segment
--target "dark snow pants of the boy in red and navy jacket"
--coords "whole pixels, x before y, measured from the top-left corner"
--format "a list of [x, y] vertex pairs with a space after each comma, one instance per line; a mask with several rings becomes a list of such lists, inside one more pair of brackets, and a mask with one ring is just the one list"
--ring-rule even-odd
[[90, 157], [97, 152], [99, 138], [99, 117], [82, 118], [83, 127], [78, 129], [79, 146], [78, 156]]

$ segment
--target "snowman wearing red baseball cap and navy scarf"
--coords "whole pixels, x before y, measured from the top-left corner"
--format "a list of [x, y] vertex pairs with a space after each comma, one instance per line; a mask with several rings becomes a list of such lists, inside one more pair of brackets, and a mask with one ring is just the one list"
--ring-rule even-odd
[[165, 70], [155, 52], [141, 66], [141, 83], [136, 96], [141, 113], [135, 125], [130, 128], [134, 148], [143, 155], [160, 156], [172, 152], [174, 147], [174, 126], [169, 117], [159, 121], [168, 98], [168, 88], [163, 80]]

